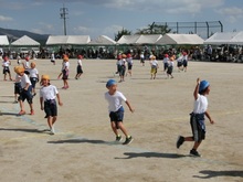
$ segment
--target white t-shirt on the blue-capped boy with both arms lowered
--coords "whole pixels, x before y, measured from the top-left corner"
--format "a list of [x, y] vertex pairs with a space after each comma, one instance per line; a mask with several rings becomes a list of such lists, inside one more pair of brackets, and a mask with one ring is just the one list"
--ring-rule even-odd
[[105, 93], [105, 99], [108, 101], [108, 110], [117, 111], [123, 105], [123, 101], [126, 101], [127, 98], [120, 92], [116, 92], [114, 95]]

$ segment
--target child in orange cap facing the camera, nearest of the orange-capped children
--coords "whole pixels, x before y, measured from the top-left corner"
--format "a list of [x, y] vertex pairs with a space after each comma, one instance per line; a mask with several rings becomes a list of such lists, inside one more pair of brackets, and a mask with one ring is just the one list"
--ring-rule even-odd
[[[51, 135], [55, 133], [54, 124], [57, 119], [57, 98], [59, 105], [62, 106], [60, 94], [54, 85], [50, 83], [49, 75], [42, 75], [41, 77], [42, 88], [40, 89], [40, 104], [41, 110], [45, 111], [45, 118], [47, 118], [47, 125], [50, 127]], [[44, 104], [44, 105], [43, 105]]]

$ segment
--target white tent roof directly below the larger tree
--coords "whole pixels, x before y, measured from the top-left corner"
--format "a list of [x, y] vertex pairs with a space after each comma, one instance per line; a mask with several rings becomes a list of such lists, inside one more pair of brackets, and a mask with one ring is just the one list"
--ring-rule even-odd
[[161, 34], [149, 34], [149, 35], [123, 35], [117, 43], [118, 44], [155, 44], [159, 39], [161, 39]]

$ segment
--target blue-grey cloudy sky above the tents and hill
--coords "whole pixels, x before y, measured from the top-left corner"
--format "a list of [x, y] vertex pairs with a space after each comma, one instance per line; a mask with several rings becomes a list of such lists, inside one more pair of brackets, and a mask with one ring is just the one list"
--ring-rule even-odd
[[[136, 33], [154, 22], [219, 25], [220, 21], [224, 32], [243, 31], [242, 0], [0, 0], [0, 28], [64, 35], [62, 8], [66, 10], [66, 34], [92, 39], [115, 39], [123, 29]], [[202, 38], [203, 30], [197, 29]], [[180, 29], [179, 33], [188, 31]]]

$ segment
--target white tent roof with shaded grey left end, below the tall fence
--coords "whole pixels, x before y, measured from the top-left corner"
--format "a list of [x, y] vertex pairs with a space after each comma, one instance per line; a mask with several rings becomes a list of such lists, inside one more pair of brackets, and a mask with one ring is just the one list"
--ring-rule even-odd
[[162, 35], [156, 44], [171, 45], [171, 44], [189, 44], [189, 45], [200, 45], [203, 44], [204, 40], [197, 34], [172, 34], [167, 33]]

